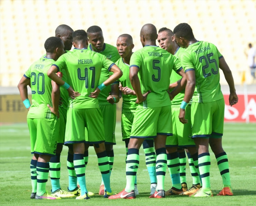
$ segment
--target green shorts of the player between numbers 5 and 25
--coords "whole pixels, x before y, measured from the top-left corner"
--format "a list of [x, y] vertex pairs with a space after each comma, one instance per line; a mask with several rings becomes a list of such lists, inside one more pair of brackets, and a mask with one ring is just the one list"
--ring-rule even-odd
[[166, 147], [195, 147], [194, 140], [191, 138], [192, 128], [190, 121], [191, 105], [186, 106], [185, 119], [188, 123], [183, 124], [180, 122], [180, 106], [172, 105], [172, 137], [167, 137]]

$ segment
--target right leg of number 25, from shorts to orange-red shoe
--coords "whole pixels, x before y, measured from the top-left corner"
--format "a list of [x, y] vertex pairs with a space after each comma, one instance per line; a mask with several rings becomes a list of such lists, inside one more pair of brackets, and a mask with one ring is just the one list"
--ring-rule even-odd
[[222, 148], [222, 135], [224, 126], [224, 99], [218, 100], [216, 111], [213, 113], [213, 129], [210, 136], [210, 146], [215, 154], [219, 172], [221, 173], [223, 180], [223, 190], [218, 195], [233, 195], [230, 173], [228, 165], [228, 157], [226, 152]]

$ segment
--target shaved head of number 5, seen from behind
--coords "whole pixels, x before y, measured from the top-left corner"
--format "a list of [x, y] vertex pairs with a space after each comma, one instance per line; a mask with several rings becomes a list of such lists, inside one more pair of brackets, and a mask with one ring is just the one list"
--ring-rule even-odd
[[142, 46], [145, 46], [145, 42], [156, 42], [157, 30], [153, 24], [145, 24], [140, 30], [140, 41]]

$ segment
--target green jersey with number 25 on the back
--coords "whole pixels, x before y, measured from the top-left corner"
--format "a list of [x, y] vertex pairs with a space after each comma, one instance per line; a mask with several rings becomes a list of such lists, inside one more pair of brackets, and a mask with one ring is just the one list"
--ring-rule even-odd
[[212, 102], [223, 98], [219, 84], [219, 59], [223, 56], [209, 42], [190, 44], [181, 56], [184, 71], [195, 70], [196, 88], [193, 102]]

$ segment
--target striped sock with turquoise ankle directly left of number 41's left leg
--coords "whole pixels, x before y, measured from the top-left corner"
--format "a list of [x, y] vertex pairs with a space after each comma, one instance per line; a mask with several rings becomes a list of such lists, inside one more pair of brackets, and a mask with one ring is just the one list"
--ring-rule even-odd
[[68, 174], [69, 174], [68, 189], [74, 190], [77, 187], [77, 177], [75, 174], [75, 167], [74, 167], [74, 154], [68, 153], [67, 167], [68, 167]]

